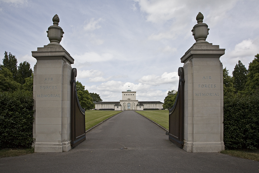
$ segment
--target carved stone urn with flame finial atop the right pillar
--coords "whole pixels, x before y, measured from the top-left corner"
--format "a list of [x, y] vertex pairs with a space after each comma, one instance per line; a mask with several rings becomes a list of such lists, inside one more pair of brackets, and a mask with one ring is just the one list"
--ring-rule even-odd
[[[206, 38], [209, 34], [209, 28], [206, 23], [202, 23], [204, 19], [203, 14], [199, 12], [199, 14], [196, 16], [197, 23], [194, 25], [192, 32], [194, 39], [196, 40], [197, 43], [208, 43], [206, 41]], [[194, 43], [195, 44], [195, 43]]]

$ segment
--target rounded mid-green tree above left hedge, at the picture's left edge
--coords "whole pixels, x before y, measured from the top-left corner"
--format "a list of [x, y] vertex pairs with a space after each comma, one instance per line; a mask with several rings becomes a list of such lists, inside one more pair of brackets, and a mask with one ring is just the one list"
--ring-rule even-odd
[[0, 65], [0, 91], [15, 91], [21, 87], [21, 84], [13, 80], [10, 70]]

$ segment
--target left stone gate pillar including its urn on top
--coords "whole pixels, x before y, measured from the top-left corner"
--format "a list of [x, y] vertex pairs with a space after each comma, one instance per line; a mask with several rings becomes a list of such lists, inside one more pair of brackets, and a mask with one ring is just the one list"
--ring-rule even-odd
[[59, 17], [53, 17], [48, 28], [50, 44], [32, 51], [37, 59], [34, 66], [34, 124], [35, 152], [63, 152], [70, 145], [70, 79], [74, 59], [59, 44], [63, 30]]

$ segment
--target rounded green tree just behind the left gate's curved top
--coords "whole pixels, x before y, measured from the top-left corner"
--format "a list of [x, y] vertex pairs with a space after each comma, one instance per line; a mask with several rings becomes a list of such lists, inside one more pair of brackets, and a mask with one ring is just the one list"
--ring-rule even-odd
[[86, 110], [94, 109], [95, 105], [93, 98], [90, 96], [88, 90], [85, 90], [84, 86], [79, 81], [76, 81], [76, 91], [81, 107]]

